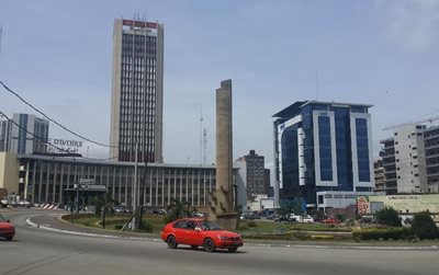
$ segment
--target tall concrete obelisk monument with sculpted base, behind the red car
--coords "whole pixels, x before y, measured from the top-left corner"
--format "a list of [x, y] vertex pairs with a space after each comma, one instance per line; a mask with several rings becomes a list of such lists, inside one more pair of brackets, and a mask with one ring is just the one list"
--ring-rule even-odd
[[216, 90], [216, 190], [210, 199], [210, 217], [226, 229], [236, 229], [234, 209], [232, 80]]

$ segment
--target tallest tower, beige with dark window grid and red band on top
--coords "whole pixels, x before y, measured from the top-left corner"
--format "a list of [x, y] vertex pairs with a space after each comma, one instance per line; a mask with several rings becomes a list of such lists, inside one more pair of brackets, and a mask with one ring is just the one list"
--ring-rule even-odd
[[162, 162], [162, 24], [114, 21], [112, 81], [110, 158]]

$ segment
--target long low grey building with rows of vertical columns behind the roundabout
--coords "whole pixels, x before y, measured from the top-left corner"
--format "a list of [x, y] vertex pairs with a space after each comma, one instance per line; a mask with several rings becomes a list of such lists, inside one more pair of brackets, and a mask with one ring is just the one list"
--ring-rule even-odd
[[[69, 192], [81, 181], [104, 186], [122, 205], [166, 208], [173, 199], [206, 209], [215, 190], [214, 165], [185, 165], [92, 161], [71, 157], [0, 153], [0, 187], [32, 203], [67, 204]], [[137, 179], [135, 179], [137, 171]], [[238, 169], [233, 170], [234, 185]], [[5, 185], [8, 184], [8, 185]], [[240, 194], [244, 190], [237, 190]], [[237, 202], [237, 199], [235, 200]]]

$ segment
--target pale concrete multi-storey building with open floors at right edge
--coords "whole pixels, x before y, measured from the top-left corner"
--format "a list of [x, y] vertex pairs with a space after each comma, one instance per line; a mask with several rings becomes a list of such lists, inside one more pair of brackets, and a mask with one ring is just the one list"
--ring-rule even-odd
[[405, 125], [381, 144], [386, 195], [439, 192], [439, 127]]

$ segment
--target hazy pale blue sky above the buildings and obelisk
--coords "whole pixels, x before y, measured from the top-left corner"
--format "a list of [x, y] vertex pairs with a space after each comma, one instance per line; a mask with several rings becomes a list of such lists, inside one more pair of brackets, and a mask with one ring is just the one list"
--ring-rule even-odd
[[[256, 150], [271, 163], [272, 115], [295, 101], [373, 105], [375, 156], [392, 136], [384, 127], [439, 116], [439, 0], [0, 0], [0, 80], [109, 144], [113, 21], [134, 16], [165, 25], [167, 163], [215, 162], [215, 90], [226, 79], [234, 159]], [[2, 87], [0, 111], [36, 114]], [[80, 140], [54, 124], [49, 136]]]

